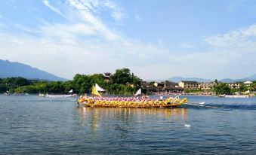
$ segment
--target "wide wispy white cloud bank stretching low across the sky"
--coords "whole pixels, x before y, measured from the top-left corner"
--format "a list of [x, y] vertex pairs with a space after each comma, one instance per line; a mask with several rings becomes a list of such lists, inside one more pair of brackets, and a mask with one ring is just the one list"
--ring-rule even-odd
[[[240, 78], [255, 68], [256, 26], [205, 38], [208, 51], [175, 53], [159, 46], [161, 40], [145, 44], [107, 27], [99, 15], [100, 9], [106, 7], [102, 1], [67, 0], [61, 5], [65, 11], [44, 2], [67, 21], [31, 29], [36, 36], [29, 35], [29, 29], [20, 29], [22, 35], [0, 31], [1, 59], [24, 62], [63, 78], [122, 67], [131, 68], [143, 79]], [[117, 8], [113, 6], [110, 15]], [[245, 69], [237, 70], [241, 66]]]

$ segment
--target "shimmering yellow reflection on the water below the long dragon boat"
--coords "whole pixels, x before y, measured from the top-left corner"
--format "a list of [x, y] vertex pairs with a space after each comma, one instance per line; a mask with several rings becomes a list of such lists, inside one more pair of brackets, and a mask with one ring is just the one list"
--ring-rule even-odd
[[78, 108], [79, 120], [91, 131], [96, 131], [106, 123], [109, 128], [121, 129], [120, 123], [143, 123], [147, 120], [187, 120], [187, 108]]

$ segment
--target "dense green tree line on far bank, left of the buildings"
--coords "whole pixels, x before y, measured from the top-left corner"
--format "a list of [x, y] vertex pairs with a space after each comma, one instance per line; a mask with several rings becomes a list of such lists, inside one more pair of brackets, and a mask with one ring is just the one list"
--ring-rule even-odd
[[[0, 78], [0, 93], [91, 93], [94, 84], [100, 85], [108, 94], [132, 95], [141, 87], [142, 79], [130, 69], [116, 69], [109, 78], [103, 74], [76, 74], [71, 81], [40, 81], [26, 78]], [[143, 89], [143, 93], [147, 90]]]

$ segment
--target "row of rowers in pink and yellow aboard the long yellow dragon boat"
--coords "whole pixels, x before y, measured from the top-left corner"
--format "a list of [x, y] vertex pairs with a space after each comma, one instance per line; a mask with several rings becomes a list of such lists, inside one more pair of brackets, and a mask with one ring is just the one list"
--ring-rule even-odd
[[187, 99], [185, 100], [180, 100], [180, 99], [173, 99], [171, 97], [168, 97], [168, 99], [151, 99], [151, 98], [145, 98], [145, 97], [89, 97], [89, 96], [80, 96], [79, 102], [90, 102], [90, 103], [96, 103], [99, 102], [101, 104], [106, 103], [106, 102], [127, 102], [127, 103], [134, 103], [136, 102], [137, 104], [145, 104], [145, 103], [152, 103], [152, 104], [161, 104], [161, 103], [180, 103], [180, 102], [186, 102]]

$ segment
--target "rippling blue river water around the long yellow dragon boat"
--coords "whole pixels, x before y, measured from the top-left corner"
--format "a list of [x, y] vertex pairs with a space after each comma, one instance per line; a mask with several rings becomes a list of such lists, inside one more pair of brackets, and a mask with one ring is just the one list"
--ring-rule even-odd
[[0, 96], [0, 154], [256, 153], [256, 97], [187, 97], [217, 108], [76, 108], [76, 98]]

